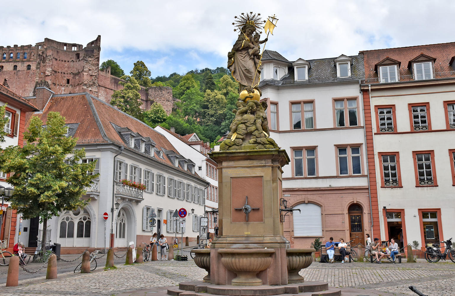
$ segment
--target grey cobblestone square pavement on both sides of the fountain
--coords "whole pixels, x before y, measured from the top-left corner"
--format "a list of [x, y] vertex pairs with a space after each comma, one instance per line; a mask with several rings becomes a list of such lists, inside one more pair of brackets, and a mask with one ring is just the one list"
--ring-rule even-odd
[[[17, 287], [0, 286], [1, 296], [57, 296], [57, 295], [145, 295], [141, 289], [176, 286], [181, 281], [201, 281], [205, 270], [194, 261], [153, 261], [132, 266], [118, 265], [118, 269], [103, 271], [97, 268], [90, 274], [59, 274], [58, 279], [44, 277], [19, 281]], [[3, 271], [3, 270], [2, 270]], [[396, 296], [416, 295], [409, 289], [415, 286], [429, 296], [455, 295], [454, 263], [334, 263], [314, 262], [301, 271], [305, 281], [326, 281], [330, 286], [374, 289]], [[137, 291], [137, 292], [135, 292]], [[150, 290], [148, 290], [150, 291]], [[152, 293], [147, 292], [148, 294]]]

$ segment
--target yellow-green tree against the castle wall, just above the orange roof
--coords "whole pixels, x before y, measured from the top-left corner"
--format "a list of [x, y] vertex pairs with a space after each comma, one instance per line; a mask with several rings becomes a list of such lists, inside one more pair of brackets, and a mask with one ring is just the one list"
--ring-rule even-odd
[[119, 84], [123, 85], [123, 89], [115, 91], [112, 94], [111, 105], [116, 106], [119, 110], [136, 117], [139, 120], [143, 119], [143, 110], [141, 109], [141, 87], [136, 79], [124, 75]]

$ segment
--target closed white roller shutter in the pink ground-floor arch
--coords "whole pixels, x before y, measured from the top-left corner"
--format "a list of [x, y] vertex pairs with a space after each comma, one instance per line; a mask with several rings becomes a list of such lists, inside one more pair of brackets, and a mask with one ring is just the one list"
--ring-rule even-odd
[[322, 237], [321, 207], [317, 204], [298, 204], [293, 209], [294, 236]]

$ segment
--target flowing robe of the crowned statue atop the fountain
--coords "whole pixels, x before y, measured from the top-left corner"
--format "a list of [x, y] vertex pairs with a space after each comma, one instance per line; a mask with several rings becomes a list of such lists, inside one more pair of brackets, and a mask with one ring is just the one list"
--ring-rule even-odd
[[[227, 68], [231, 70], [235, 81], [239, 82], [243, 87], [257, 86], [261, 76], [261, 71], [258, 69], [258, 61], [255, 61], [254, 55], [250, 56], [248, 53], [250, 49], [249, 43], [246, 36], [241, 33], [232, 51], [227, 55]], [[257, 72], [256, 69], [258, 69]]]

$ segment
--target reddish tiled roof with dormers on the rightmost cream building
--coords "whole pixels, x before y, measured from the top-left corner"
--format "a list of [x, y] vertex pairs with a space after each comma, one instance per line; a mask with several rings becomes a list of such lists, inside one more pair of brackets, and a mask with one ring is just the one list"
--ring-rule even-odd
[[408, 63], [421, 54], [436, 59], [434, 63], [435, 78], [455, 77], [455, 72], [450, 74], [450, 71], [454, 71], [454, 69], [449, 66], [451, 57], [455, 55], [455, 42], [377, 49], [360, 51], [360, 53], [364, 55], [365, 79], [367, 82], [368, 79], [378, 78], [378, 72], [374, 71], [374, 65], [384, 60], [387, 56], [401, 62], [399, 68], [400, 81], [413, 80], [412, 77], [406, 78], [404, 76], [413, 74], [412, 69], [408, 68]]

